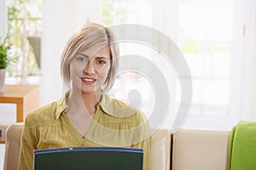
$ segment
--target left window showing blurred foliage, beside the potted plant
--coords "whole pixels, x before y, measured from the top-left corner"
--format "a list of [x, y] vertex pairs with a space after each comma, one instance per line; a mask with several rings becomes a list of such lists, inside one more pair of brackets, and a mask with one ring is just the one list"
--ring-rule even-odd
[[6, 0], [6, 4], [12, 57], [17, 59], [9, 67], [7, 83], [38, 83], [35, 77], [40, 75], [42, 0]]

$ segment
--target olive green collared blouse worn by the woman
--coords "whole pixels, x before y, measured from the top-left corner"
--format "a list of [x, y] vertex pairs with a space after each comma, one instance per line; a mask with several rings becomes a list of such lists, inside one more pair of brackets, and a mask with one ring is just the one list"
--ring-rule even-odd
[[26, 116], [21, 137], [20, 170], [33, 169], [34, 150], [87, 146], [143, 149], [143, 169], [149, 169], [150, 129], [141, 111], [103, 94], [82, 138], [65, 114], [67, 108], [66, 97], [63, 97]]

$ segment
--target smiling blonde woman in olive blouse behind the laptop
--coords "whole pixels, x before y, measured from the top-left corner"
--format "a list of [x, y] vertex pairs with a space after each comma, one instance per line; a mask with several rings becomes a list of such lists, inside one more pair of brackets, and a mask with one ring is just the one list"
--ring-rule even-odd
[[117, 72], [119, 48], [106, 27], [87, 23], [67, 42], [61, 77], [67, 93], [26, 116], [19, 169], [33, 165], [33, 150], [116, 146], [144, 150], [149, 169], [149, 127], [143, 113], [106, 92]]

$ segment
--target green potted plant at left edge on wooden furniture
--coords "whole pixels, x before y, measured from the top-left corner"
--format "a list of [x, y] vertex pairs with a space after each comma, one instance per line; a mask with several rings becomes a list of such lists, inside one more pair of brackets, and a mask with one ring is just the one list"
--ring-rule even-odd
[[11, 61], [9, 57], [9, 49], [10, 43], [8, 42], [8, 37], [5, 37], [3, 39], [3, 42], [0, 43], [0, 92], [3, 92], [6, 68], [8, 67]]

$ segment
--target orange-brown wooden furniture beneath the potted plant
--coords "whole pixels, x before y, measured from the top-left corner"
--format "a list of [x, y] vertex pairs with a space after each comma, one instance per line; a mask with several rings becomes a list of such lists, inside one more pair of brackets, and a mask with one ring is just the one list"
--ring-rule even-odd
[[27, 113], [39, 106], [39, 86], [5, 85], [0, 93], [0, 103], [16, 104], [16, 122], [23, 122]]

